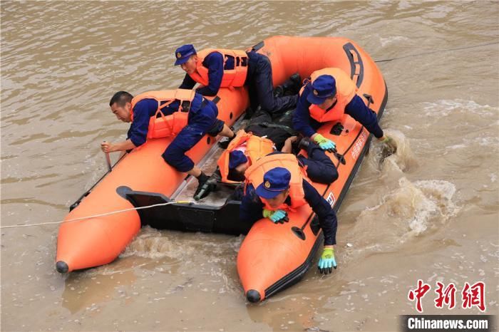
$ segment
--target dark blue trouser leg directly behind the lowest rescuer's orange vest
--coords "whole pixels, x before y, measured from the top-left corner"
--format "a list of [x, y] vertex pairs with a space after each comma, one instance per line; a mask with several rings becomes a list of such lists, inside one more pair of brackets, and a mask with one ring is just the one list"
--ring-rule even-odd
[[298, 155], [297, 158], [303, 165], [307, 166], [307, 176], [310, 180], [329, 185], [338, 178], [338, 170], [319, 145], [310, 142], [307, 148], [308, 158]]

